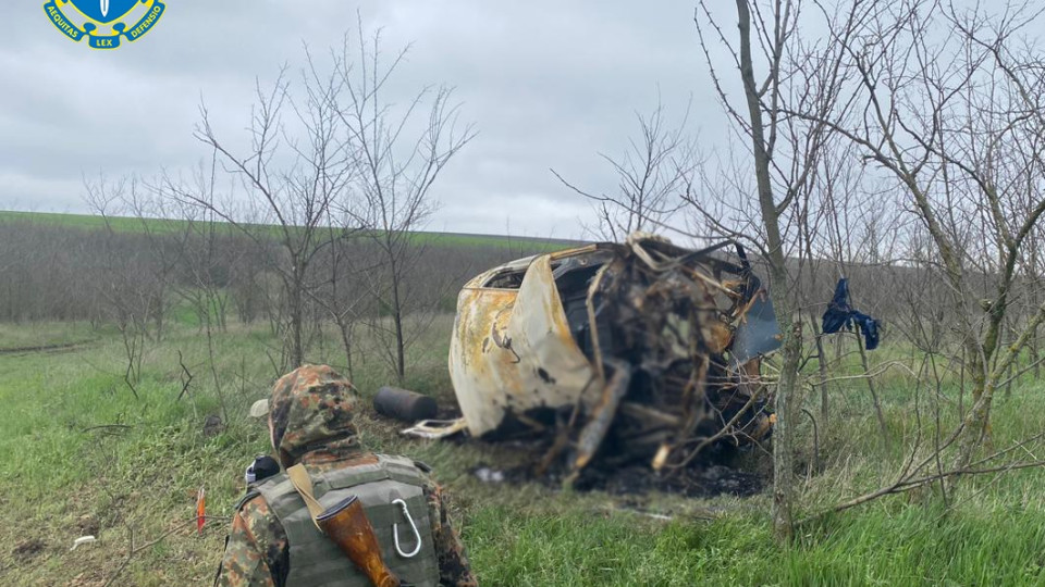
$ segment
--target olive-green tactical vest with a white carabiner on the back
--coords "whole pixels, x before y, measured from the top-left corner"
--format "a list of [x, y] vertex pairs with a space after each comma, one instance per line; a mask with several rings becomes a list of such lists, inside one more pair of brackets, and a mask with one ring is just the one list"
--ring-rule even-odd
[[[366, 510], [373, 533], [381, 545], [384, 563], [404, 584], [439, 585], [439, 563], [435, 558], [432, 524], [422, 487], [425, 477], [413, 461], [403, 457], [378, 454], [373, 464], [317, 473], [309, 471], [312, 492], [317, 500], [330, 508], [348, 496], [356, 496]], [[333, 541], [312, 524], [308, 508], [285, 473], [267, 479], [257, 490], [275, 513], [290, 545], [290, 574], [287, 587], [365, 587], [370, 580], [342, 553]], [[421, 548], [411, 558], [404, 558], [395, 548], [393, 524], [396, 525], [399, 546], [404, 552], [414, 550], [417, 537], [402, 507], [393, 500], [406, 502], [410, 517], [421, 536]]]

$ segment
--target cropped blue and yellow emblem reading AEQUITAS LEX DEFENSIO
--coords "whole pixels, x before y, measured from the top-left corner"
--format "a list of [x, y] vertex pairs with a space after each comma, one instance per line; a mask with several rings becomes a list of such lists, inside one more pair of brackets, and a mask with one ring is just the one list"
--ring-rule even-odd
[[167, 4], [160, 0], [50, 0], [51, 23], [74, 41], [87, 37], [95, 49], [115, 49], [120, 38], [136, 41], [152, 30]]

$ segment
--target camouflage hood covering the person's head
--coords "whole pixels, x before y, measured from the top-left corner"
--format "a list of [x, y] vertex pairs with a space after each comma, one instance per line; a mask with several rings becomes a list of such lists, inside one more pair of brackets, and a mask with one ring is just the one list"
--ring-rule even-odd
[[283, 466], [306, 454], [312, 461], [359, 452], [355, 404], [355, 388], [327, 365], [305, 365], [280, 377], [269, 400], [269, 426]]

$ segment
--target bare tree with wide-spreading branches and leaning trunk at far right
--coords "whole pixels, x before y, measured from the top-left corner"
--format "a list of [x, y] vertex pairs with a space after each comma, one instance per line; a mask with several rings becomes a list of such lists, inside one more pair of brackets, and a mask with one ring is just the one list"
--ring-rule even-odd
[[998, 384], [1045, 321], [1040, 305], [1004, 344], [1018, 262], [1045, 213], [1040, 154], [1026, 149], [1045, 132], [1045, 64], [1017, 38], [1037, 14], [999, 14], [930, 0], [839, 10], [829, 28], [844, 97], [829, 116], [789, 112], [827, 124], [898, 182], [932, 239], [972, 385], [958, 466], [988, 435]]

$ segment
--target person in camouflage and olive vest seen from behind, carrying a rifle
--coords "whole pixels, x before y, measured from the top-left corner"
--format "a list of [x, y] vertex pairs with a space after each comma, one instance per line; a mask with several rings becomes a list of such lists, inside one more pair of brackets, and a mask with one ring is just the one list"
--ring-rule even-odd
[[[303, 366], [276, 382], [269, 432], [284, 472], [241, 500], [216, 585], [376, 584], [373, 569], [364, 572], [366, 564], [346, 554], [352, 549], [320, 529], [329, 529], [323, 513], [346, 503], [357, 514], [362, 505], [380, 553], [367, 564], [390, 575], [385, 585], [477, 584], [428, 467], [366, 450], [353, 423], [355, 403], [352, 384], [329, 366]], [[356, 530], [344, 536], [359, 538]]]

